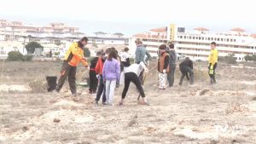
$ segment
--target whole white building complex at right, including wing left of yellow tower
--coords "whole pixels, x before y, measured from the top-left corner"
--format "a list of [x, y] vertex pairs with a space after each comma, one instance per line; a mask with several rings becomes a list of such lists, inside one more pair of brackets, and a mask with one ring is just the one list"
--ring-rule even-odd
[[[192, 60], [207, 60], [212, 42], [217, 43], [219, 56], [234, 55], [236, 60], [241, 61], [244, 60], [245, 55], [256, 55], [256, 34], [247, 34], [241, 28], [216, 33], [204, 27], [194, 30], [194, 32], [186, 32], [184, 26], [172, 24], [166, 27], [166, 31], [163, 28], [153, 29], [150, 32], [134, 35], [134, 38], [142, 38], [144, 45], [153, 56], [157, 55], [156, 51], [160, 43], [167, 41], [175, 43], [179, 56], [189, 56]], [[151, 36], [152, 34], [154, 36]]]

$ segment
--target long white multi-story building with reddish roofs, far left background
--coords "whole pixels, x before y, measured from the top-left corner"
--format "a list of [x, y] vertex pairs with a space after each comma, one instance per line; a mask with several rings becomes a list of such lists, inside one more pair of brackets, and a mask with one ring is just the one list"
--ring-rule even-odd
[[50, 23], [49, 26], [25, 25], [19, 21], [0, 20], [0, 41], [28, 42], [34, 40], [54, 43], [58, 40], [73, 41], [83, 37], [78, 27], [66, 26], [63, 23]]

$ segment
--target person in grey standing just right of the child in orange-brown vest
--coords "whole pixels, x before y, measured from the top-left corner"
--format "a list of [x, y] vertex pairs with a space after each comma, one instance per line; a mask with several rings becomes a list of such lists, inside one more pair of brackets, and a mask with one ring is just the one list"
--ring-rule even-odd
[[174, 49], [174, 44], [169, 43], [169, 47], [167, 48], [167, 52], [170, 55], [170, 72], [167, 73], [167, 80], [169, 82], [169, 87], [172, 87], [174, 84], [174, 73], [176, 69], [177, 62], [177, 54]]

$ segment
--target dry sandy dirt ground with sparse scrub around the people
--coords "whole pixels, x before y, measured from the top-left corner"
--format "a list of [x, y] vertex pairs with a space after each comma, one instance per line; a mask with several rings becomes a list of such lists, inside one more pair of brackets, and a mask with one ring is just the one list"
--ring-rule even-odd
[[[210, 85], [207, 64], [195, 62], [195, 84], [184, 80], [165, 91], [148, 73], [150, 106], [137, 104], [131, 84], [124, 106], [95, 106], [96, 95], [78, 86], [76, 99], [66, 82], [61, 95], [46, 92], [45, 76], [58, 76], [61, 61], [0, 62], [0, 143], [19, 144], [235, 144], [256, 143], [256, 69], [218, 64], [218, 84]], [[246, 67], [250, 66], [250, 67]], [[88, 76], [79, 66], [77, 81]]]

